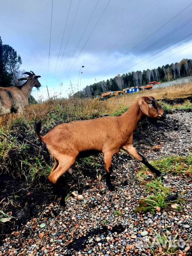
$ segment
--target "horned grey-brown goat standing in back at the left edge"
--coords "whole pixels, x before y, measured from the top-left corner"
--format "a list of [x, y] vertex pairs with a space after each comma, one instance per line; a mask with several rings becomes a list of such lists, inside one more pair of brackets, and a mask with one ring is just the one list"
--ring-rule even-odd
[[23, 74], [28, 77], [21, 77], [18, 81], [27, 80], [21, 86], [0, 87], [0, 116], [9, 113], [21, 114], [23, 109], [28, 105], [28, 99], [31, 90], [35, 86], [37, 89], [41, 86], [38, 78], [33, 71]]

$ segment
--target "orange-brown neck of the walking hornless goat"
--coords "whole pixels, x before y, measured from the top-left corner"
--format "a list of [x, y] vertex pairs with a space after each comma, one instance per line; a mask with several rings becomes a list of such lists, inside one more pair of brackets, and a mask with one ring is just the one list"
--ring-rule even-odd
[[143, 116], [138, 103], [135, 103], [129, 110], [127, 110], [120, 118], [122, 120], [122, 132], [125, 135], [132, 134]]

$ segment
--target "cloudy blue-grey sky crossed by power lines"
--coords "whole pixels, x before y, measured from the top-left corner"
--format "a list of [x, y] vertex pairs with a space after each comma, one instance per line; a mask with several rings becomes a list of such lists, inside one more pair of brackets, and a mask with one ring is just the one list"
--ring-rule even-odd
[[1, 0], [0, 20], [20, 69], [42, 76], [36, 99], [192, 58], [191, 0]]

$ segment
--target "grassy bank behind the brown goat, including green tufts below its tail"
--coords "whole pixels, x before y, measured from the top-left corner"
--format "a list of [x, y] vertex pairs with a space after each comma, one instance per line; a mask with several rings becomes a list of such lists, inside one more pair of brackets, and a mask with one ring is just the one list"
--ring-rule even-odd
[[[118, 116], [123, 114], [141, 96], [151, 95], [157, 100], [185, 98], [191, 94], [192, 84], [170, 86], [164, 89], [125, 94], [106, 101], [92, 99], [51, 99], [29, 105], [21, 116], [10, 114], [0, 117], [0, 174], [9, 173], [14, 177], [24, 176], [27, 183], [36, 178], [47, 177], [53, 161], [38, 142], [33, 125], [42, 120], [42, 134], [53, 126], [82, 119], [97, 118], [101, 115]], [[185, 103], [185, 106], [188, 106]], [[182, 106], [183, 107], [183, 106]], [[95, 157], [84, 158], [77, 168], [98, 169]]]

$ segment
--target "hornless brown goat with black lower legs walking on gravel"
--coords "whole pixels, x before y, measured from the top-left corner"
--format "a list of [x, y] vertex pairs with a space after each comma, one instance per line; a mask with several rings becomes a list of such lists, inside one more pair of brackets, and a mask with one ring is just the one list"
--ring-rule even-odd
[[113, 190], [114, 186], [110, 181], [111, 161], [113, 155], [121, 148], [160, 176], [162, 173], [151, 166], [133, 147], [133, 131], [144, 115], [160, 118], [164, 116], [164, 109], [153, 97], [141, 97], [121, 116], [59, 124], [44, 137], [40, 135], [41, 122], [36, 123], [35, 130], [38, 137], [55, 160], [49, 180], [56, 183], [63, 173], [70, 170], [79, 153], [97, 150], [104, 155], [106, 182], [109, 189]]

